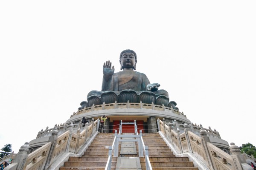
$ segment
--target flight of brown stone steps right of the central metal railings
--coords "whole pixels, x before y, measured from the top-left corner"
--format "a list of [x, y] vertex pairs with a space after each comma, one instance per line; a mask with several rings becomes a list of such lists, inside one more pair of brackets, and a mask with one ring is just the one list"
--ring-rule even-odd
[[[143, 141], [148, 146], [148, 157], [153, 170], [198, 170], [188, 157], [176, 157], [158, 133], [144, 133]], [[145, 170], [145, 158], [140, 158]]]

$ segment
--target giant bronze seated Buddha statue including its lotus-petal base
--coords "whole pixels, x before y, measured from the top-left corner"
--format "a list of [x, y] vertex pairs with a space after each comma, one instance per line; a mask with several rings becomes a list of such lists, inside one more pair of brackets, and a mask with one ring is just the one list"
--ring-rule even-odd
[[[151, 84], [148, 77], [136, 70], [137, 55], [135, 51], [124, 50], [120, 54], [121, 71], [114, 73], [115, 68], [110, 61], [103, 64], [103, 79], [101, 91], [90, 91], [88, 102], [82, 102], [83, 107], [114, 102], [143, 102], [157, 105], [173, 105], [169, 102], [167, 91], [158, 89], [160, 84]], [[168, 103], [169, 102], [169, 103]], [[176, 105], [176, 103], [175, 103]]]

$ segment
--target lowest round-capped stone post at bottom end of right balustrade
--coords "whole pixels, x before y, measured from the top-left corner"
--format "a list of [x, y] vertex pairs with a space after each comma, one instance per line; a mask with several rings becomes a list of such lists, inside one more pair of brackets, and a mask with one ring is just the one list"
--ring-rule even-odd
[[230, 153], [231, 157], [234, 161], [234, 164], [236, 164], [238, 170], [249, 170], [251, 167], [246, 163], [246, 160], [244, 156], [241, 154], [241, 151], [238, 146], [236, 146], [233, 142], [230, 143]]

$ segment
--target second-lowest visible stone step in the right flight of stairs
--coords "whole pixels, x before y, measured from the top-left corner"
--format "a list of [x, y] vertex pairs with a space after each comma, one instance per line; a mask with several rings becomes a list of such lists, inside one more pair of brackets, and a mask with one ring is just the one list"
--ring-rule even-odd
[[[151, 167], [194, 167], [193, 162], [191, 161], [173, 161], [173, 162], [168, 162], [168, 161], [158, 161], [154, 162], [151, 161]], [[140, 162], [142, 167], [145, 167], [145, 162], [142, 161]]]

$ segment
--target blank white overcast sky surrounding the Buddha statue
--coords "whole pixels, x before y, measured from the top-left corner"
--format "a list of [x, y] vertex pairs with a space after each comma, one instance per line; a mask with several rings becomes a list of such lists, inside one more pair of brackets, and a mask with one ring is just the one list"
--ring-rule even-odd
[[0, 148], [64, 123], [101, 90], [102, 65], [137, 71], [193, 123], [256, 146], [256, 1], [0, 1]]

